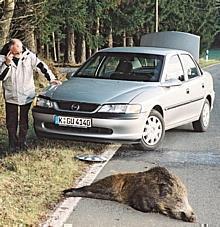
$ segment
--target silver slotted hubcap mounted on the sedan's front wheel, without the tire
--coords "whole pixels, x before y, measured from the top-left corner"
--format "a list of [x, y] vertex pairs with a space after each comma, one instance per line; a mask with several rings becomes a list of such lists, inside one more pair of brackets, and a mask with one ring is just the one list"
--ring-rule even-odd
[[163, 126], [159, 118], [150, 116], [145, 124], [142, 138], [148, 145], [155, 145], [159, 142], [163, 132]]

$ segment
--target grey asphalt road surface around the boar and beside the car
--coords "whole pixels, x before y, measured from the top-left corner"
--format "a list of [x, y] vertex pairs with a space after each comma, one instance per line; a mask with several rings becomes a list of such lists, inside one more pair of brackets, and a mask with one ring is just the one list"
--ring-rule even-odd
[[185, 183], [198, 223], [190, 224], [161, 214], [138, 212], [112, 201], [85, 198], [79, 202], [67, 224], [74, 227], [220, 226], [220, 65], [207, 70], [214, 77], [216, 91], [207, 132], [196, 133], [191, 125], [167, 131], [160, 149], [154, 152], [122, 146], [98, 175], [98, 178], [103, 178], [119, 172], [165, 166]]

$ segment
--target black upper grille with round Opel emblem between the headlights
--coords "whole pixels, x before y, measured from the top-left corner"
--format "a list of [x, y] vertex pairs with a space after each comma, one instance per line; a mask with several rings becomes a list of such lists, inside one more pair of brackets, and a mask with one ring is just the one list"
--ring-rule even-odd
[[72, 101], [57, 101], [58, 107], [61, 110], [71, 110], [79, 112], [93, 112], [95, 111], [99, 104], [94, 103], [81, 103]]

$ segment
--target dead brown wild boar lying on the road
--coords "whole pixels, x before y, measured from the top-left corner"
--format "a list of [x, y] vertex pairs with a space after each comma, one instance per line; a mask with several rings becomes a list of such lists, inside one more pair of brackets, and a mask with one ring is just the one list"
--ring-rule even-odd
[[117, 201], [142, 212], [159, 212], [187, 222], [196, 221], [186, 187], [164, 167], [108, 176], [89, 186], [64, 190], [63, 194]]

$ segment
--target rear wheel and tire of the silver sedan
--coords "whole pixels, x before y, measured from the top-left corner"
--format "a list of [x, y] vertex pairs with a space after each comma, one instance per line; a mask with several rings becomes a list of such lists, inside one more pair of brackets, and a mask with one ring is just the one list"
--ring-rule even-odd
[[208, 99], [205, 100], [205, 103], [202, 108], [201, 115], [198, 121], [194, 121], [193, 128], [196, 132], [205, 132], [209, 127], [210, 121], [210, 103]]

